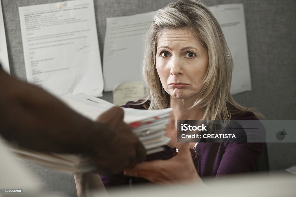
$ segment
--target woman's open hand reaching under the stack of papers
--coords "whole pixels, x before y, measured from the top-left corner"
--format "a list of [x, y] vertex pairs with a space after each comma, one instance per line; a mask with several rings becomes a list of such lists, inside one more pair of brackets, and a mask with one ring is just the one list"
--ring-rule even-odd
[[201, 182], [192, 160], [189, 143], [182, 143], [179, 153], [173, 158], [142, 162], [124, 171], [124, 174], [145, 178], [161, 185]]

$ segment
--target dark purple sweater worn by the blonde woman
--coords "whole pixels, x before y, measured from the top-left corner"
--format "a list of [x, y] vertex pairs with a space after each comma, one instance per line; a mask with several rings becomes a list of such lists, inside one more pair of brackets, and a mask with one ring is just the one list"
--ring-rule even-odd
[[[144, 109], [142, 106], [129, 105], [122, 107]], [[252, 112], [233, 118], [233, 120], [258, 120]], [[211, 143], [200, 142], [195, 151], [191, 150], [196, 170], [201, 178], [213, 176], [215, 178], [233, 173], [255, 171], [255, 165], [263, 149], [264, 143]], [[197, 152], [198, 154], [196, 154]], [[146, 161], [155, 159], [169, 159], [176, 153], [176, 148], [165, 146], [164, 152], [148, 155]], [[101, 175], [106, 188], [110, 186], [129, 185], [148, 182], [143, 178], [118, 175]]]

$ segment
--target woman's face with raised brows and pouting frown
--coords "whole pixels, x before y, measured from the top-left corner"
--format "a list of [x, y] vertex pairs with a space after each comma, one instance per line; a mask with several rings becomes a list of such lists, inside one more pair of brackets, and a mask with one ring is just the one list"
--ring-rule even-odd
[[156, 69], [173, 98], [196, 99], [208, 66], [207, 49], [185, 29], [164, 30], [157, 42]]

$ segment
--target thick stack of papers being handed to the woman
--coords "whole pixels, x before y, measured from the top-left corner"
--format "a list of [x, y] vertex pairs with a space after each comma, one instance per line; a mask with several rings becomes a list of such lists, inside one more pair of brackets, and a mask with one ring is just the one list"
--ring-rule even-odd
[[[96, 120], [106, 110], [112, 108], [112, 103], [88, 95], [65, 95], [61, 99], [78, 113]], [[163, 110], [137, 110], [123, 108], [124, 122], [129, 124], [147, 154], [163, 151], [170, 138], [164, 136], [171, 108]], [[22, 160], [66, 173], [81, 173], [95, 170], [90, 158], [73, 154], [41, 153], [9, 144], [9, 150]]]

